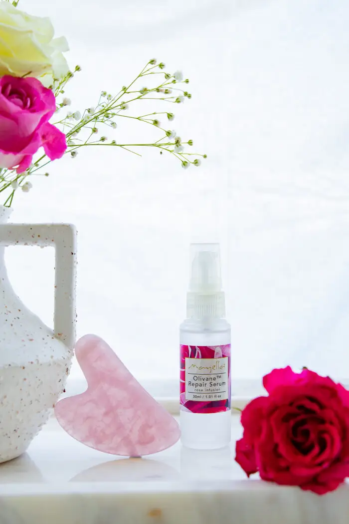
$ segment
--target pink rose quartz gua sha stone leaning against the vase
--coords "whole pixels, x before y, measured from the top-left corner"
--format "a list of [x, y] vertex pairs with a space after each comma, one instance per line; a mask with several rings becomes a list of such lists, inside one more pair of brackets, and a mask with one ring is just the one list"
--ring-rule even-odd
[[181, 431], [175, 419], [104, 340], [85, 335], [76, 343], [75, 354], [88, 387], [54, 408], [67, 433], [96, 450], [131, 457], [151, 455], [177, 442]]

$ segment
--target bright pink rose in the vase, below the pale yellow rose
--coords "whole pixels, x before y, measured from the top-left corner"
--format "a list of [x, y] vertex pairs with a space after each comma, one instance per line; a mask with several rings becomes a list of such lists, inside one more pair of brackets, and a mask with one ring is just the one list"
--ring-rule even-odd
[[51, 160], [66, 150], [64, 133], [49, 124], [55, 97], [35, 78], [0, 79], [0, 167], [25, 171], [39, 147]]

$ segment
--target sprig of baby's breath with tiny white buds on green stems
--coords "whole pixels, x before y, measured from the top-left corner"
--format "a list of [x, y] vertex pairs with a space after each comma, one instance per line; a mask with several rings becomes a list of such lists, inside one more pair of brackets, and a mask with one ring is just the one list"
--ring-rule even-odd
[[[186, 150], [192, 147], [192, 139], [182, 140], [173, 129], [169, 129], [175, 114], [172, 111], [154, 111], [152, 113], [130, 114], [130, 107], [139, 107], [138, 104], [144, 100], [155, 100], [172, 104], [182, 104], [185, 99], [190, 99], [192, 94], [184, 88], [189, 79], [184, 79], [181, 71], [168, 73], [165, 71], [164, 62], [157, 63], [155, 58], [149, 60], [137, 77], [129, 84], [123, 85], [117, 94], [102, 91], [97, 103], [84, 111], [72, 111], [71, 100], [65, 95], [66, 84], [74, 77], [75, 73], [81, 71], [80, 65], [70, 71], [61, 80], [54, 79], [50, 88], [57, 100], [57, 112], [59, 115], [69, 107], [66, 115], [59, 119], [54, 125], [61, 127], [66, 136], [66, 154], [75, 158], [81, 148], [108, 146], [125, 149], [134, 155], [141, 156], [139, 149], [145, 147], [155, 148], [160, 155], [166, 153], [173, 155], [181, 162], [184, 169], [190, 165], [199, 167], [201, 158], [207, 155], [195, 154]], [[157, 129], [160, 137], [156, 141], [144, 141], [140, 143], [123, 143], [121, 140], [108, 138], [109, 133], [114, 133], [118, 128], [118, 119], [128, 118], [130, 121], [138, 121]], [[121, 122], [121, 120], [120, 120]], [[24, 173], [17, 174], [16, 170], [0, 170], [0, 193], [8, 190], [9, 195], [5, 201], [6, 206], [12, 205], [15, 192], [21, 188], [28, 192], [31, 182], [27, 180], [32, 176], [48, 176], [46, 166], [51, 162], [46, 155], [40, 156]]]

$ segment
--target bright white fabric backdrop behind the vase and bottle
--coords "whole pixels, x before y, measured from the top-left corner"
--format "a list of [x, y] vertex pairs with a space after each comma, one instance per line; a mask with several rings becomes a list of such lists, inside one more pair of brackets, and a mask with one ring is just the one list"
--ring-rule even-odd
[[[346, 0], [19, 7], [69, 40], [83, 68], [66, 90], [73, 110], [152, 57], [182, 69], [193, 99], [175, 107], [174, 128], [209, 157], [183, 170], [155, 151], [86, 150], [16, 196], [15, 222], [77, 225], [78, 335], [104, 337], [138, 378], [176, 378], [188, 244], [220, 241], [233, 378], [285, 364], [349, 377]], [[7, 261], [22, 300], [52, 324], [53, 253], [10, 248]]]

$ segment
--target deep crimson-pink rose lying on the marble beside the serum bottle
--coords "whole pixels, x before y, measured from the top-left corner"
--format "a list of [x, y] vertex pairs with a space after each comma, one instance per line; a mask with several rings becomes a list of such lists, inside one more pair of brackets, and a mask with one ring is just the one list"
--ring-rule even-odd
[[263, 378], [268, 397], [241, 414], [235, 460], [247, 476], [323, 495], [349, 476], [349, 391], [308, 369], [274, 369]]

